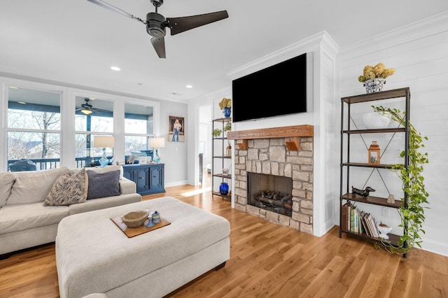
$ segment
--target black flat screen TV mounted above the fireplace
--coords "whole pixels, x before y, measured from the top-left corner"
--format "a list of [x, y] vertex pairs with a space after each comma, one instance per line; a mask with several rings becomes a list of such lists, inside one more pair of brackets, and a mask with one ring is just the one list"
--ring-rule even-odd
[[307, 53], [232, 80], [232, 121], [307, 112]]

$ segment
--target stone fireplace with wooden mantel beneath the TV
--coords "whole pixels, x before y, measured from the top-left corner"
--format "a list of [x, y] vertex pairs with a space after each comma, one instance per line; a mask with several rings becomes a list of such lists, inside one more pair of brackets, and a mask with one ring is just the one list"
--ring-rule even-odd
[[[251, 215], [265, 218], [270, 222], [313, 234], [313, 130], [310, 125], [253, 129], [250, 131], [228, 132], [228, 139], [235, 140], [235, 208]], [[252, 173], [265, 175], [267, 186], [253, 181]], [[253, 197], [260, 190], [249, 190], [251, 186], [276, 190], [280, 198], [286, 197], [289, 183], [280, 178], [289, 178], [291, 211], [267, 208], [268, 204], [253, 203]], [[282, 189], [282, 190], [281, 190]], [[263, 190], [266, 191], [266, 190]], [[287, 200], [287, 198], [285, 199]], [[261, 200], [263, 201], [263, 200]], [[258, 205], [258, 206], [257, 206]], [[288, 207], [288, 205], [286, 205]], [[275, 208], [275, 207], [274, 207]], [[286, 208], [285, 208], [286, 209]], [[279, 212], [279, 210], [281, 210]]]

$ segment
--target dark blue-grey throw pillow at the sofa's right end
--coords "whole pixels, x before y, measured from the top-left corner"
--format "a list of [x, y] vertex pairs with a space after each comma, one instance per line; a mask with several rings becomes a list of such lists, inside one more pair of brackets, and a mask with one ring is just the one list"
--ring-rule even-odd
[[120, 195], [120, 171], [87, 171], [89, 177], [89, 189], [87, 199], [97, 199], [102, 197], [113, 197]]

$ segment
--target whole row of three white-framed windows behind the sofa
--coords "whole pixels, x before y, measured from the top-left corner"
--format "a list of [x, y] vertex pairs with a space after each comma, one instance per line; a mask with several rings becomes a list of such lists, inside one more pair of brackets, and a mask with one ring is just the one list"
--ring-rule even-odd
[[103, 151], [94, 147], [95, 136], [115, 137], [114, 146], [106, 148], [111, 162], [123, 162], [132, 152], [152, 157], [148, 140], [158, 132], [158, 102], [36, 82], [6, 84], [0, 97], [6, 109], [0, 109], [2, 171], [20, 159], [29, 159], [29, 168], [37, 170], [98, 164]]

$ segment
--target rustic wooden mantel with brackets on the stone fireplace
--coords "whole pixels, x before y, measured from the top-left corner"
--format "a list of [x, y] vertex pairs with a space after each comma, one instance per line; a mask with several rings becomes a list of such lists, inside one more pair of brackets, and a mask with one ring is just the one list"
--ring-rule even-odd
[[288, 150], [299, 150], [300, 136], [314, 136], [314, 127], [312, 125], [293, 125], [227, 132], [227, 139], [235, 140], [241, 150], [247, 149], [247, 140], [273, 138], [286, 138], [285, 143]]

